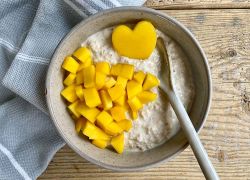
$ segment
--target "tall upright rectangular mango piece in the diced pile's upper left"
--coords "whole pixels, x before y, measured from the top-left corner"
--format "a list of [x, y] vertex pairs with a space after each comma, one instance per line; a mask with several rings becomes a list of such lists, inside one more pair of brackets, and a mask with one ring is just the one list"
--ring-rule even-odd
[[83, 69], [84, 87], [95, 87], [95, 66], [91, 65]]

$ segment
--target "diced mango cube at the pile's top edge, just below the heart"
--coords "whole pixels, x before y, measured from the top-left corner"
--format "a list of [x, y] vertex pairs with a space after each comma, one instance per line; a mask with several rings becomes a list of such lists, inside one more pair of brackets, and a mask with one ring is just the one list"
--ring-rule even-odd
[[118, 63], [111, 67], [110, 73], [114, 76], [121, 76], [131, 80], [134, 74], [134, 66], [131, 64]]

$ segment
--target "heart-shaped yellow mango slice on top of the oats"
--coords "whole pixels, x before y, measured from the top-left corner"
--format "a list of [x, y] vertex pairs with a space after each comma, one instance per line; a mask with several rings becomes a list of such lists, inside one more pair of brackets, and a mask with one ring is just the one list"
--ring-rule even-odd
[[112, 33], [114, 49], [121, 56], [147, 59], [156, 46], [156, 31], [148, 21], [140, 21], [132, 30], [126, 25], [117, 26]]

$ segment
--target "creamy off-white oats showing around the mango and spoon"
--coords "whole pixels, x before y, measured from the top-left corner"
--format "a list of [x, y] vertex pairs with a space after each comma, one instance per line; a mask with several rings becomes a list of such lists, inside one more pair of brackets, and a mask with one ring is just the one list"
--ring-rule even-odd
[[[94, 61], [109, 61], [111, 64], [129, 63], [135, 66], [136, 71], [150, 72], [159, 77], [162, 63], [157, 49], [147, 60], [121, 57], [112, 47], [112, 30], [113, 28], [107, 28], [97, 32], [82, 43], [82, 46], [92, 50]], [[188, 108], [194, 96], [194, 84], [192, 74], [187, 68], [187, 57], [180, 46], [169, 37], [158, 30], [157, 35], [161, 36], [167, 44], [174, 86], [184, 106]], [[133, 128], [125, 133], [127, 151], [145, 151], [154, 148], [168, 140], [179, 129], [178, 119], [165, 96], [156, 88], [153, 91], [158, 94], [157, 100], [143, 107], [138, 119], [133, 121]]]

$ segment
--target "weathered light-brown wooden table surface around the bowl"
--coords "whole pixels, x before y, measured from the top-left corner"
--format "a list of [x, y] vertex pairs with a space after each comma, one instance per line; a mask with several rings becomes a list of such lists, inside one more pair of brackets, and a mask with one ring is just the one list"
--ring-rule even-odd
[[[212, 106], [200, 138], [221, 179], [250, 179], [250, 1], [149, 0], [196, 36], [212, 72]], [[39, 179], [204, 179], [188, 147], [143, 172], [119, 173], [62, 148]]]

